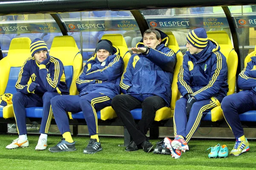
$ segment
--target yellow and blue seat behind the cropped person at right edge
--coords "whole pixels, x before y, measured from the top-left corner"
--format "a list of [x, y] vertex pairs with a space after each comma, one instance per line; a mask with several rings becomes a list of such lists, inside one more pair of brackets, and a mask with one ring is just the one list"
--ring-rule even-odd
[[[244, 67], [247, 65], [247, 62], [251, 61], [251, 57], [256, 56], [256, 46], [254, 51], [248, 54], [244, 59]], [[239, 114], [240, 121], [244, 122], [256, 122], [256, 111], [247, 111], [245, 113]]]

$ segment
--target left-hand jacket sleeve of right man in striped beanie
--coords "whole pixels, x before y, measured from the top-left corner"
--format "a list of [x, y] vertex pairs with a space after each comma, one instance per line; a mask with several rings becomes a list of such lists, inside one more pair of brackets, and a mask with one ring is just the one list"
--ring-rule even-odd
[[180, 72], [178, 74], [178, 89], [180, 91], [180, 94], [182, 96], [185, 96], [186, 94], [192, 94], [194, 93], [192, 88], [190, 87], [190, 72], [189, 72], [189, 66], [187, 65], [187, 55], [185, 54], [183, 57], [182, 65], [180, 66]]

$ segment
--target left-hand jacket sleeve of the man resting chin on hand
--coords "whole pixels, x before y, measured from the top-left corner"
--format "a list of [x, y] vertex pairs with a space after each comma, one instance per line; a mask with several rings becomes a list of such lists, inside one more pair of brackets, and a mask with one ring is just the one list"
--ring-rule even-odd
[[[30, 58], [29, 58], [30, 59]], [[15, 84], [15, 88], [17, 90], [17, 92], [22, 92], [24, 94], [29, 94], [32, 93], [30, 92], [29, 89], [29, 78], [30, 78], [30, 73], [29, 73], [29, 59], [27, 59], [25, 61], [25, 63], [23, 64], [23, 66], [20, 68], [20, 73], [18, 75], [18, 80]]]

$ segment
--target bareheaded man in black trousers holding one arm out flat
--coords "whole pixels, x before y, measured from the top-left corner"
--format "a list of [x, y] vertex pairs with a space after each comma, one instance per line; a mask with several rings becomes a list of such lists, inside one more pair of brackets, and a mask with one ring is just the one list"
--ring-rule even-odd
[[[146, 133], [154, 121], [158, 109], [170, 106], [173, 71], [177, 62], [176, 54], [167, 48], [169, 37], [162, 31], [148, 29], [136, 48], [122, 75], [121, 91], [125, 95], [113, 98], [111, 106], [122, 120], [133, 140], [125, 151], [135, 151], [143, 147], [150, 152], [153, 145]], [[131, 110], [142, 108], [142, 118], [138, 125]]]

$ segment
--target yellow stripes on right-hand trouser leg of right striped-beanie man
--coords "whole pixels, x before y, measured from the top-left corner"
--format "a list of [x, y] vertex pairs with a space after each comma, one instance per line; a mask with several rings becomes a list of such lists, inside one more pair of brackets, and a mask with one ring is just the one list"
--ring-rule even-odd
[[192, 135], [195, 133], [195, 130], [197, 129], [197, 127], [199, 126], [199, 123], [201, 122], [202, 116], [203, 116], [203, 112], [206, 111], [207, 109], [210, 108], [214, 108], [215, 106], [217, 106], [217, 104], [215, 102], [212, 102], [208, 105], [204, 105], [198, 112], [198, 116], [195, 119], [195, 123], [192, 126], [191, 130], [189, 131], [189, 133], [186, 136], [186, 142], [188, 143], [189, 140], [191, 139]]

